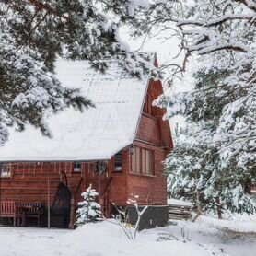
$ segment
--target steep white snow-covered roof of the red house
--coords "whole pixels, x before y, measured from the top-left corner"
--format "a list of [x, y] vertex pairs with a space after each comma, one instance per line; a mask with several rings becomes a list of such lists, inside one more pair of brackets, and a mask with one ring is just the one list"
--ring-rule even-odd
[[148, 77], [139, 80], [122, 71], [114, 61], [106, 74], [85, 61], [56, 64], [56, 76], [64, 87], [79, 87], [96, 108], [84, 112], [67, 109], [49, 117], [53, 138], [28, 126], [24, 132], [10, 129], [0, 147], [0, 161], [78, 161], [109, 159], [134, 141], [144, 104]]

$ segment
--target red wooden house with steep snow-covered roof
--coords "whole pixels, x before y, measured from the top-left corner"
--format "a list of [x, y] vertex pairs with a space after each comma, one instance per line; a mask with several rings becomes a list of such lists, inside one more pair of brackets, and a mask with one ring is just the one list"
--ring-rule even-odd
[[162, 161], [172, 139], [164, 110], [152, 106], [163, 92], [161, 83], [128, 76], [114, 61], [106, 74], [82, 61], [58, 61], [56, 70], [65, 87], [81, 88], [96, 107], [49, 115], [52, 139], [30, 126], [22, 133], [10, 130], [0, 148], [2, 221], [73, 227], [80, 194], [92, 184], [104, 215], [111, 216], [112, 203], [125, 206], [138, 195], [140, 205], [150, 205], [144, 226], [164, 225]]

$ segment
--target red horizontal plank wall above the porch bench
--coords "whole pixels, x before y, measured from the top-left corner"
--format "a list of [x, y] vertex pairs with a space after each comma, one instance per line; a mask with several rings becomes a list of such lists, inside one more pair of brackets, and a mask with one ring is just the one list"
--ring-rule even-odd
[[[1, 200], [31, 201], [47, 203], [48, 195], [48, 163], [13, 163], [11, 178], [1, 178]], [[76, 191], [81, 176], [73, 173], [72, 163], [50, 164], [50, 199], [53, 202], [58, 184], [64, 177], [71, 192]]]

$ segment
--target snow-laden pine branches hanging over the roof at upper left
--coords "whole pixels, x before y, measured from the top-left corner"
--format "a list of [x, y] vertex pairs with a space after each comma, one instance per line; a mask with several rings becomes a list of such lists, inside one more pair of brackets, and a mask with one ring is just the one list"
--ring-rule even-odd
[[[120, 40], [122, 12], [132, 17], [146, 1], [28, 0], [0, 3], [0, 145], [8, 126], [30, 123], [51, 136], [45, 117], [67, 107], [83, 111], [92, 102], [65, 89], [54, 77], [57, 58], [87, 60], [104, 72], [114, 57], [133, 76], [152, 69], [148, 56], [129, 53]], [[127, 53], [128, 52], [128, 53]], [[76, 86], [76, 85], [74, 85]]]

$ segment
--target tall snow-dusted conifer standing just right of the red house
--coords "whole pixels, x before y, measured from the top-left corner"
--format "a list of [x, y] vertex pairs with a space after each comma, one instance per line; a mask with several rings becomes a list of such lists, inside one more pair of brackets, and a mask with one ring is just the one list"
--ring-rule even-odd
[[239, 165], [238, 159], [227, 162], [221, 152], [225, 142], [217, 135], [222, 110], [233, 100], [221, 93], [229, 75], [227, 70], [202, 69], [195, 74], [192, 91], [170, 101], [170, 108], [183, 106], [177, 113], [186, 117], [189, 129], [176, 138], [174, 152], [165, 161], [169, 196], [188, 199], [219, 216], [222, 209], [251, 214], [256, 206], [245, 190], [248, 180], [255, 178], [255, 168]]

